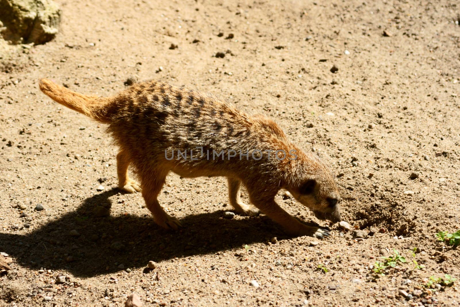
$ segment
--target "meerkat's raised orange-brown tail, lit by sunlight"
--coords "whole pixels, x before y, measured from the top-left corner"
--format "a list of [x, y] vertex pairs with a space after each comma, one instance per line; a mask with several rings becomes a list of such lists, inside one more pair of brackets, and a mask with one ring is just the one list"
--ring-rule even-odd
[[78, 111], [99, 122], [106, 122], [105, 110], [110, 103], [107, 97], [87, 96], [73, 92], [48, 79], [40, 79], [40, 90], [54, 101]]

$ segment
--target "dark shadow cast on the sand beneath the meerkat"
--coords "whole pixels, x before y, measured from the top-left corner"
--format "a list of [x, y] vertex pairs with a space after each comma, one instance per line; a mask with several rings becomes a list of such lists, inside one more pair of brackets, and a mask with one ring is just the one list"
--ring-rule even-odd
[[[26, 235], [0, 233], [0, 250], [30, 268], [65, 269], [75, 276], [92, 277], [121, 271], [118, 267], [146, 266], [148, 261], [205, 255], [282, 236], [282, 230], [265, 216], [222, 219], [223, 212], [188, 215], [180, 231], [168, 232], [143, 217], [96, 217], [110, 210], [116, 189], [87, 198], [73, 212], [64, 214]], [[116, 205], [116, 204], [115, 204]], [[106, 214], [108, 212], [106, 211]], [[75, 233], [72, 231], [76, 230]]]

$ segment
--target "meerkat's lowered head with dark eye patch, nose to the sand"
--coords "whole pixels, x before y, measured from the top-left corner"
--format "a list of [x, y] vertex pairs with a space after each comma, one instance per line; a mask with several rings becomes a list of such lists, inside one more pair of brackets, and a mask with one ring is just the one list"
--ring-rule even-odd
[[308, 207], [316, 218], [334, 223], [342, 220], [339, 209], [339, 188], [328, 167], [316, 155], [299, 156], [292, 163], [292, 180], [286, 186], [293, 197]]

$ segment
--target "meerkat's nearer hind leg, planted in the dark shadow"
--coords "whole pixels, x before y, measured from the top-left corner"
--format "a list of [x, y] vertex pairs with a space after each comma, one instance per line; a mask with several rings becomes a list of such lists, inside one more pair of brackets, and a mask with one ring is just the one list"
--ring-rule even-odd
[[142, 176], [142, 196], [144, 197], [147, 208], [153, 215], [155, 223], [165, 229], [177, 230], [182, 227], [181, 223], [175, 217], [169, 216], [163, 208], [161, 208], [158, 202], [158, 194], [160, 194], [161, 188], [165, 184], [167, 172], [164, 174], [148, 174]]

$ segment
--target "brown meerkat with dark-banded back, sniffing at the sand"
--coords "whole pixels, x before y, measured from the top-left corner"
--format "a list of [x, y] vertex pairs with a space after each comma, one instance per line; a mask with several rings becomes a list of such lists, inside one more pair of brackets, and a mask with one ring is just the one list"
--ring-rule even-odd
[[[142, 192], [153, 219], [163, 228], [181, 227], [157, 199], [171, 171], [185, 178], [227, 177], [230, 204], [237, 213], [261, 211], [292, 236], [323, 238], [330, 232], [307, 226], [283, 210], [274, 199], [280, 189], [289, 191], [316, 218], [341, 220], [339, 189], [326, 164], [289, 141], [268, 116], [249, 115], [213, 95], [155, 80], [135, 83], [112, 97], [75, 93], [47, 79], [40, 80], [40, 90], [108, 125], [120, 147], [119, 188]], [[138, 181], [128, 176], [128, 166]], [[242, 185], [255, 208], [242, 202]]]

